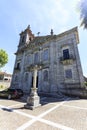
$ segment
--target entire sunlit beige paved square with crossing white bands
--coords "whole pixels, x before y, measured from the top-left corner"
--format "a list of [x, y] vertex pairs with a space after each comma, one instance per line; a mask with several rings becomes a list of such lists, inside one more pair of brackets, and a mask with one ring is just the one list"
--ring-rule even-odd
[[25, 98], [0, 99], [0, 130], [87, 130], [87, 100], [43, 97], [42, 106], [28, 110]]

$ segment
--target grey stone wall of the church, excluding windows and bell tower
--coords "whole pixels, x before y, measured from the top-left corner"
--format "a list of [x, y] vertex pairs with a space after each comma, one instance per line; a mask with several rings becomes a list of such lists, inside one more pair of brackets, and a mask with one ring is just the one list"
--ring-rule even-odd
[[[39, 38], [40, 37], [38, 37], [38, 39]], [[60, 93], [60, 91], [65, 91], [66, 93], [73, 93], [73, 91], [68, 91], [67, 88], [83, 86], [83, 73], [75, 32], [70, 31], [70, 33], [64, 33], [63, 35], [56, 35], [54, 39], [47, 41], [44, 36], [44, 39], [40, 40], [41, 43], [32, 41], [31, 44], [33, 46], [31, 45], [30, 48], [29, 46], [25, 46], [24, 50], [18, 48], [15, 67], [17, 66], [17, 62], [20, 62], [20, 69], [16, 70], [14, 68], [11, 86], [21, 88], [24, 92], [30, 92], [33, 71], [30, 71], [29, 67], [35, 65], [34, 57], [36, 52], [38, 52], [39, 57], [37, 64], [43, 64], [42, 69], [38, 72], [38, 92]], [[48, 49], [49, 53], [47, 61], [44, 61], [42, 58], [45, 49]], [[64, 49], [69, 49], [70, 54], [70, 59], [65, 61], [61, 60]], [[48, 71], [48, 81], [44, 81], [45, 70]], [[71, 70], [71, 78], [66, 77], [65, 72], [67, 70]]]

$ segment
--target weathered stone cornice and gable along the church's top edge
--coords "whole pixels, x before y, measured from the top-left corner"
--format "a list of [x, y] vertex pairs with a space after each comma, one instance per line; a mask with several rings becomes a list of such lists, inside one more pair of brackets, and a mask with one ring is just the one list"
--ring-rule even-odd
[[70, 33], [74, 33], [75, 36], [76, 36], [76, 43], [78, 44], [79, 43], [79, 36], [78, 36], [78, 28], [77, 27], [74, 27], [68, 31], [65, 31], [61, 34], [58, 34], [58, 35], [46, 35], [46, 36], [37, 36], [37, 37], [34, 37], [33, 40], [31, 40], [29, 42], [29, 44], [24, 44], [24, 46], [22, 48], [18, 48], [18, 51], [15, 53], [17, 54], [18, 52], [21, 52], [27, 48], [32, 48], [32, 47], [35, 47], [37, 45], [42, 45], [44, 43], [47, 43], [48, 41], [52, 41], [52, 40], [56, 40], [58, 38], [62, 38]]

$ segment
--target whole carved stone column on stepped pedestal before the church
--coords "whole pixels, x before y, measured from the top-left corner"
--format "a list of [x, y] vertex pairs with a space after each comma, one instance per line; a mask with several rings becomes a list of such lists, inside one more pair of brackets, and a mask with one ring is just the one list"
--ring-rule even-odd
[[24, 105], [25, 108], [27, 109], [35, 109], [38, 106], [41, 106], [40, 104], [40, 98], [37, 94], [37, 88], [36, 88], [36, 82], [37, 82], [37, 71], [40, 67], [35, 65], [32, 70], [33, 70], [33, 87], [31, 88], [31, 93], [30, 96], [27, 98], [27, 104]]

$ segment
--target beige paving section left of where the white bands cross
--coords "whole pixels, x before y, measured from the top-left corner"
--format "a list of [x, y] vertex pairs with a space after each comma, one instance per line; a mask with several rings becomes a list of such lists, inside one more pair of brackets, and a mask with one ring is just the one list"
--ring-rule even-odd
[[6, 109], [0, 110], [0, 130], [16, 130], [29, 120], [30, 118], [7, 111]]

